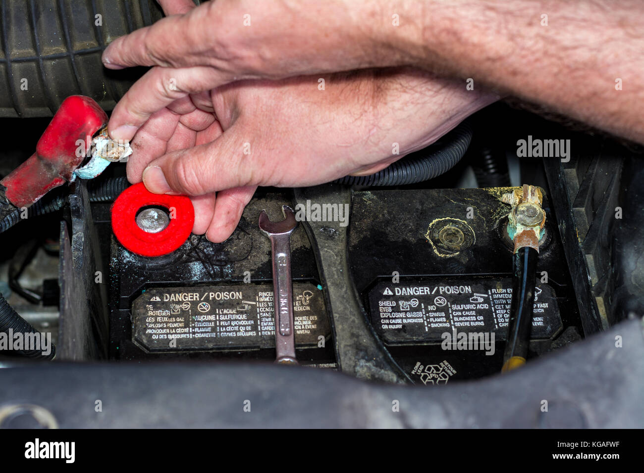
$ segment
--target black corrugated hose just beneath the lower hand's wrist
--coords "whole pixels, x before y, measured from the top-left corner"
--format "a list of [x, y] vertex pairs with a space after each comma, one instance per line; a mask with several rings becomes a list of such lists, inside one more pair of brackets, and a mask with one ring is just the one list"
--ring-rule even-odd
[[441, 138], [442, 144], [431, 145], [392, 163], [382, 171], [369, 176], [345, 176], [334, 181], [339, 184], [384, 186], [405, 185], [433, 179], [456, 165], [468, 151], [472, 129], [462, 122]]

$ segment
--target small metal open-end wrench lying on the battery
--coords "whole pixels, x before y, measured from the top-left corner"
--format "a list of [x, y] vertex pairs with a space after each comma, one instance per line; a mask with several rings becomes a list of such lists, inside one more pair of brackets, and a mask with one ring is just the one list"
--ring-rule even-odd
[[297, 364], [293, 317], [293, 281], [290, 275], [290, 234], [298, 227], [295, 212], [282, 205], [284, 219], [270, 221], [266, 210], [260, 213], [260, 230], [270, 239], [273, 262], [273, 305], [275, 307], [276, 363]]

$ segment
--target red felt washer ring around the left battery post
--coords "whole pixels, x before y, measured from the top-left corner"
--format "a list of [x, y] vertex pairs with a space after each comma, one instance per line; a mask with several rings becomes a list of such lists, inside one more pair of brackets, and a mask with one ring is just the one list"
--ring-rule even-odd
[[[170, 223], [158, 233], [137, 225], [140, 209], [158, 206], [167, 209]], [[193, 203], [186, 196], [153, 194], [140, 182], [121, 192], [112, 205], [112, 230], [121, 245], [142, 256], [167, 255], [183, 245], [194, 225]]]

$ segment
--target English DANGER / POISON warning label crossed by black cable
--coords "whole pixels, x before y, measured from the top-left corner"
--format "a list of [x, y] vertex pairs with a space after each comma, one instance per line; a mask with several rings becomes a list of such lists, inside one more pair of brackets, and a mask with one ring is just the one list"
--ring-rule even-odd
[[[440, 343], [452, 332], [495, 332], [505, 340], [512, 299], [511, 278], [392, 284], [369, 293], [375, 331], [389, 345]], [[562, 328], [553, 288], [537, 284], [531, 339], [549, 339]]]

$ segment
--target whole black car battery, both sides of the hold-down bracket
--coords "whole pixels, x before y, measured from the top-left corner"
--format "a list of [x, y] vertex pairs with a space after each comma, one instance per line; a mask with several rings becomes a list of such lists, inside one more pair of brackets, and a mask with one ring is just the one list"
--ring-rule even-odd
[[[498, 189], [355, 190], [346, 252], [369, 321], [418, 384], [498, 373], [511, 299], [510, 206]], [[223, 243], [191, 236], [142, 257], [111, 240], [109, 355], [274, 360], [270, 242], [258, 216], [281, 218], [289, 192], [260, 190]], [[556, 221], [544, 192], [531, 357], [580, 338]], [[291, 239], [299, 362], [334, 367], [332, 320], [303, 225]]]

